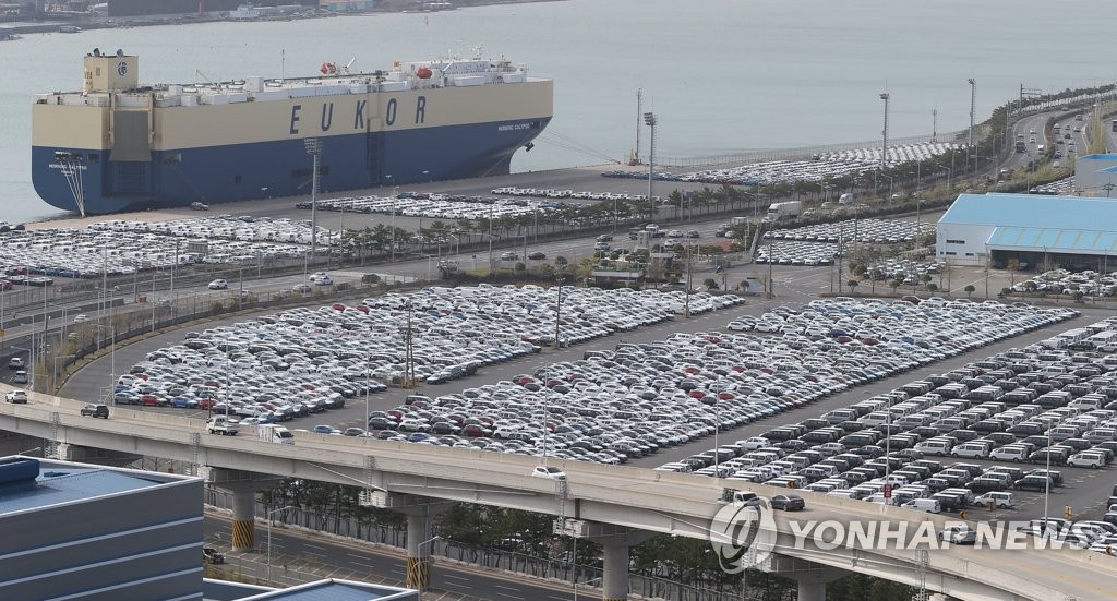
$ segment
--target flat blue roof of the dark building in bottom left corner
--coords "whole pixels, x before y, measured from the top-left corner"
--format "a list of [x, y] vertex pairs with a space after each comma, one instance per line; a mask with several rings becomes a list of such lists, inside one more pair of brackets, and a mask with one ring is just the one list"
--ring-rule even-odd
[[181, 477], [40, 460], [35, 480], [0, 484], [0, 515], [162, 486]]

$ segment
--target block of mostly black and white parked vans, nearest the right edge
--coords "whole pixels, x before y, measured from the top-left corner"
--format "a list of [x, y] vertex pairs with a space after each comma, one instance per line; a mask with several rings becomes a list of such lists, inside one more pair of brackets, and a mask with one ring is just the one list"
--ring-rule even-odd
[[[1068, 332], [1078, 330], [1117, 331], [1117, 318]], [[929, 456], [997, 464], [944, 466]], [[1048, 465], [1100, 469], [1115, 456], [1117, 355], [1052, 347], [1049, 338], [659, 469], [938, 513], [1015, 507], [1018, 492], [1063, 485]], [[1044, 467], [1011, 465], [1024, 461]], [[1105, 551], [1117, 543], [1117, 489], [1107, 507], [1100, 521], [1029, 532]]]

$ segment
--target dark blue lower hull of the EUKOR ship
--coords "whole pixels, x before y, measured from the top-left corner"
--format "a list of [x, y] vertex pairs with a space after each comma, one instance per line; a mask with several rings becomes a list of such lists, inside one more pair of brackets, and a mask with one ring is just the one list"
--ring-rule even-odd
[[[509, 122], [402, 132], [335, 135], [319, 140], [318, 191], [503, 175], [512, 156], [550, 122]], [[78, 154], [67, 170], [57, 153]], [[88, 214], [309, 194], [313, 159], [304, 140], [151, 151], [150, 162], [114, 162], [108, 150], [32, 146], [35, 190], [52, 207], [77, 211], [80, 190]], [[74, 175], [80, 174], [80, 185]]]

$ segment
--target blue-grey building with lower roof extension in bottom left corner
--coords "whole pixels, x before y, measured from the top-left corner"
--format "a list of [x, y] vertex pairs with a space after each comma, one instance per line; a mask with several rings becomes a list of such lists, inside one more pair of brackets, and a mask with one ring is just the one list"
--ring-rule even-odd
[[202, 492], [192, 476], [0, 458], [0, 599], [419, 599], [337, 579], [288, 589], [203, 579]]

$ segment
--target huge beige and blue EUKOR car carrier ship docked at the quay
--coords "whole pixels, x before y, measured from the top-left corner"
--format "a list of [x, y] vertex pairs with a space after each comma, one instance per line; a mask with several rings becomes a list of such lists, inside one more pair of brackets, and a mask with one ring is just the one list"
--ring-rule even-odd
[[101, 214], [506, 174], [551, 121], [553, 82], [504, 58], [313, 77], [141, 86], [139, 57], [85, 57], [80, 92], [39, 94], [31, 179]]

